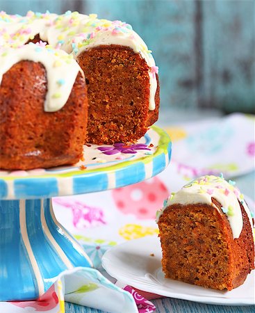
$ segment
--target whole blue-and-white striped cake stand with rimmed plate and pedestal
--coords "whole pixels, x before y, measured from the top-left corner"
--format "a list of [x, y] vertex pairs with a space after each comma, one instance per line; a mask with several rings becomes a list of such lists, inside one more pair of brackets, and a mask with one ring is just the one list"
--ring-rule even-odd
[[170, 138], [151, 127], [137, 144], [84, 145], [75, 166], [0, 171], [0, 300], [40, 298], [63, 271], [92, 266], [58, 223], [52, 197], [119, 188], [164, 170]]

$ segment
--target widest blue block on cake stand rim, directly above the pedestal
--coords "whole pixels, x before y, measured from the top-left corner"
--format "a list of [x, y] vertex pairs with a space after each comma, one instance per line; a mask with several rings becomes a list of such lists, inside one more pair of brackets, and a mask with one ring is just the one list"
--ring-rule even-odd
[[58, 194], [56, 178], [15, 179], [15, 198], [51, 198]]

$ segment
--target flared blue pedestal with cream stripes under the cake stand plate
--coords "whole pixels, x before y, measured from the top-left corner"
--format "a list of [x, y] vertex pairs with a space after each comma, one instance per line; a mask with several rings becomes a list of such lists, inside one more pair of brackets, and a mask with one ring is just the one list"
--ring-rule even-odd
[[0, 200], [0, 223], [1, 300], [38, 298], [62, 271], [92, 266], [56, 220], [49, 198]]

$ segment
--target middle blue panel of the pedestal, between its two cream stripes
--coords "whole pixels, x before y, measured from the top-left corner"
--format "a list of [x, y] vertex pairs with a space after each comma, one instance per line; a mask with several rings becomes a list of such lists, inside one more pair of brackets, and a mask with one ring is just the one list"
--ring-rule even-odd
[[[49, 206], [49, 199], [44, 201], [47, 201], [47, 205]], [[56, 250], [47, 239], [47, 236], [44, 234], [40, 218], [40, 210], [40, 200], [26, 200], [28, 238], [33, 254], [35, 255], [35, 259], [38, 262], [42, 278], [44, 278], [44, 290], [47, 291], [47, 289], [51, 287], [51, 284], [54, 282], [56, 276], [60, 273], [60, 271], [65, 271], [67, 266], [63, 264], [63, 261], [60, 259]], [[51, 262], [47, 262], [47, 256], [49, 256]]]

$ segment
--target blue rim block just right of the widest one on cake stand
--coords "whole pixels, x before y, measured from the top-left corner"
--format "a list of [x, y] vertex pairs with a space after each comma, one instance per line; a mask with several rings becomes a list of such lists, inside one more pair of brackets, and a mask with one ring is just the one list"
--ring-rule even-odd
[[76, 193], [93, 193], [108, 187], [107, 174], [92, 173], [86, 176], [74, 176], [73, 190]]

